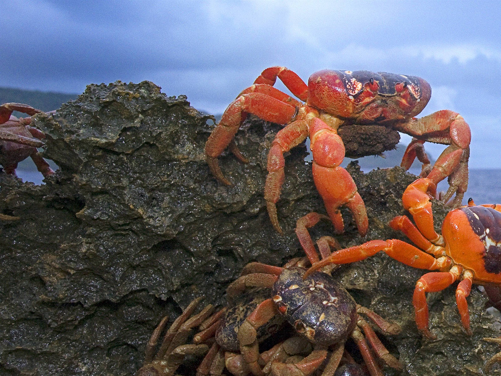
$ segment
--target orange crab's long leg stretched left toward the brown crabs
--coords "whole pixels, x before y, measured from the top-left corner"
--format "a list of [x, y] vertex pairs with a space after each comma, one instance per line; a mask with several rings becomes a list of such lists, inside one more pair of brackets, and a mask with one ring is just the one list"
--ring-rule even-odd
[[392, 259], [418, 269], [437, 270], [449, 266], [452, 262], [449, 257], [445, 256], [435, 259], [413, 245], [398, 239], [371, 240], [359, 246], [336, 251], [328, 258], [315, 263], [306, 271], [304, 279], [314, 271], [329, 264], [350, 264], [362, 261], [380, 251], [383, 251]]

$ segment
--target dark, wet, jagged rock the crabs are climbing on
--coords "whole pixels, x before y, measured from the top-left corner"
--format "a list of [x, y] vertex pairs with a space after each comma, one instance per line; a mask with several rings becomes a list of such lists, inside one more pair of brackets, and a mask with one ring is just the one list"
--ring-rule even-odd
[[[0, 221], [0, 374], [133, 374], [161, 316], [177, 316], [202, 294], [223, 303], [225, 287], [249, 261], [281, 265], [301, 255], [296, 220], [325, 212], [306, 148], [297, 147], [286, 157], [278, 205], [285, 235], [277, 234], [263, 186], [280, 127], [244, 124], [236, 143], [250, 162], [224, 154], [222, 171], [234, 183], [224, 186], [204, 161], [210, 116], [150, 82], [90, 85], [55, 114], [37, 115], [34, 125], [47, 134], [44, 156], [60, 169], [40, 186], [0, 172], [0, 214], [20, 217]], [[361, 239], [343, 211], [342, 246], [402, 238], [386, 224], [403, 213], [400, 197], [415, 176], [400, 167], [363, 174], [356, 163], [349, 171], [370, 231]], [[434, 207], [440, 223], [445, 210]], [[332, 235], [332, 226], [312, 234]], [[381, 254], [334, 274], [358, 303], [402, 325], [402, 334], [382, 337], [404, 364], [402, 374], [480, 375], [498, 351], [481, 339], [498, 330], [476, 288], [468, 298], [470, 337], [455, 286], [429, 294], [438, 335], [429, 341], [416, 330], [411, 304], [422, 270]]]

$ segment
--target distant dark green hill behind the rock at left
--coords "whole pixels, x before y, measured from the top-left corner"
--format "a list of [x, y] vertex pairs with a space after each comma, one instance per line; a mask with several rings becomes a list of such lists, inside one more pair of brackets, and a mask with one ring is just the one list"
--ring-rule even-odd
[[10, 102], [25, 103], [47, 112], [57, 110], [63, 103], [77, 98], [78, 95], [0, 87], [0, 104]]

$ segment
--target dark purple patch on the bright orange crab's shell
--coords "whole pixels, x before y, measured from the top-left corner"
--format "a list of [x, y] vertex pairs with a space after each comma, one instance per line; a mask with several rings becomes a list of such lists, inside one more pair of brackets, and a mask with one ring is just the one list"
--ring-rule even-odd
[[461, 208], [471, 229], [483, 242], [483, 261], [489, 273], [501, 273], [501, 213], [485, 206]]

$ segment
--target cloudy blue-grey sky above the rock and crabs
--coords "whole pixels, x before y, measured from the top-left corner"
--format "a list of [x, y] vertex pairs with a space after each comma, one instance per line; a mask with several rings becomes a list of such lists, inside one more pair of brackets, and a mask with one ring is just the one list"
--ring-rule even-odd
[[459, 112], [470, 166], [501, 168], [499, 0], [10, 0], [2, 13], [0, 86], [81, 93], [150, 80], [221, 113], [274, 65], [305, 81], [326, 68], [415, 75], [432, 87], [422, 115]]

